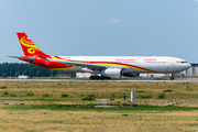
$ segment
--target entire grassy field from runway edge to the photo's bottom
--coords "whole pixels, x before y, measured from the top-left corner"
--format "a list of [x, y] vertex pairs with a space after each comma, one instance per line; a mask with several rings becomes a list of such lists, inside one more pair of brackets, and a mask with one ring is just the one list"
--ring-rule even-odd
[[[81, 98], [102, 98], [117, 101], [123, 95], [136, 91], [136, 99], [143, 96], [157, 99], [165, 94], [167, 99], [197, 99], [198, 82], [31, 82], [1, 81], [0, 96], [24, 97], [28, 99], [1, 99], [0, 131], [197, 131], [198, 108], [157, 107], [139, 105], [133, 108], [92, 108], [96, 100]], [[172, 91], [170, 91], [170, 90]], [[33, 94], [28, 97], [26, 94]], [[43, 95], [40, 99], [40, 94]], [[61, 98], [63, 94], [69, 98]], [[46, 95], [46, 96], [44, 96]], [[44, 99], [48, 98], [48, 99]], [[53, 99], [54, 98], [54, 99]], [[55, 99], [56, 98], [56, 99]], [[127, 97], [128, 99], [130, 96]], [[150, 98], [148, 98], [150, 99]], [[18, 100], [19, 105], [10, 105]], [[8, 103], [8, 102], [9, 103]], [[24, 102], [23, 102], [24, 101]], [[47, 105], [26, 105], [37, 101]], [[52, 105], [53, 101], [75, 105]], [[138, 102], [142, 100], [136, 100]], [[91, 103], [92, 102], [92, 103]], [[143, 101], [142, 101], [143, 102]], [[142, 103], [141, 102], [141, 103]], [[152, 102], [147, 100], [146, 103]], [[155, 102], [166, 102], [156, 100]], [[197, 103], [196, 101], [178, 101]], [[78, 103], [78, 105], [76, 105]], [[88, 105], [87, 105], [88, 103]]]

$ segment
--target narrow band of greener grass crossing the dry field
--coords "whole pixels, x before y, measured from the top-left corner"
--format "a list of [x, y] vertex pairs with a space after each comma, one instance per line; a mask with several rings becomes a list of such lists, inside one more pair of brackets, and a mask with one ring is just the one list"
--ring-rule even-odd
[[194, 111], [198, 110], [196, 107], [176, 107], [176, 106], [167, 106], [167, 107], [158, 107], [158, 106], [138, 106], [132, 108], [92, 108], [92, 103], [89, 105], [7, 105], [1, 109], [4, 110], [54, 110], [54, 111], [76, 111], [76, 110], [84, 110], [84, 111]]

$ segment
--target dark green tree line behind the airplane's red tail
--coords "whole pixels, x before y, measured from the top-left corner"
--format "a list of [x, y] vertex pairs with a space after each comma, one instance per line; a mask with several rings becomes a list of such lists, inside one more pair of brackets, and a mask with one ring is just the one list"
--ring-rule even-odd
[[62, 73], [57, 70], [51, 70], [33, 64], [24, 63], [3, 63], [0, 64], [0, 77], [18, 77], [19, 75], [25, 75], [30, 77], [76, 77], [75, 73]]

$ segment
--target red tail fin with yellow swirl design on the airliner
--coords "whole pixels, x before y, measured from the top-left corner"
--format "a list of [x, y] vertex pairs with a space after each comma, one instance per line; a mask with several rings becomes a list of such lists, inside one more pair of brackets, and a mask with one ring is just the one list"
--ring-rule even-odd
[[43, 53], [41, 50], [37, 48], [37, 46], [28, 37], [25, 33], [16, 33], [19, 41], [21, 43], [21, 46], [23, 48], [25, 56], [34, 56], [38, 55], [42, 57], [48, 57], [50, 55]]

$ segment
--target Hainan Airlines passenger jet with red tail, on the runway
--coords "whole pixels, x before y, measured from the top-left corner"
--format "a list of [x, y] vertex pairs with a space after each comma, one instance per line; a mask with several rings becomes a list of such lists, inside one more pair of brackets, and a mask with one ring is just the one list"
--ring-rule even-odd
[[172, 74], [191, 65], [185, 59], [166, 56], [50, 56], [43, 53], [24, 32], [18, 32], [24, 56], [9, 56], [44, 68], [66, 73], [90, 73], [90, 79], [139, 77], [140, 73]]

